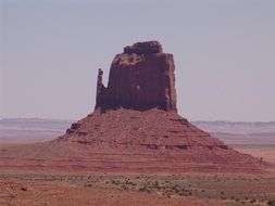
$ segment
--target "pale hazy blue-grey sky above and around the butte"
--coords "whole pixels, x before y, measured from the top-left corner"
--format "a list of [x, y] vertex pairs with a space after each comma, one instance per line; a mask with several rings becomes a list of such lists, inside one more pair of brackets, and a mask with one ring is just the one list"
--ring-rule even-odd
[[179, 114], [275, 120], [274, 0], [0, 0], [0, 118], [79, 119], [123, 47], [173, 53]]

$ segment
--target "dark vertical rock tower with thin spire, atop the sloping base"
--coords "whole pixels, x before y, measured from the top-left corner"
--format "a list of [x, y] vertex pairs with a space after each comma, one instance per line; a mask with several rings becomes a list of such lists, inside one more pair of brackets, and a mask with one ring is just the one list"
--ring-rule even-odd
[[107, 88], [99, 69], [96, 108], [176, 111], [174, 70], [173, 54], [162, 53], [158, 41], [127, 46], [112, 62]]

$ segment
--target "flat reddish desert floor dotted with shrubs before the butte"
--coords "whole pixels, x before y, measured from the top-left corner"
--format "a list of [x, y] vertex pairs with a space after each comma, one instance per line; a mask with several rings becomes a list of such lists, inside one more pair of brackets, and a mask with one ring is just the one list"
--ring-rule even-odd
[[[272, 145], [235, 149], [275, 164]], [[264, 176], [0, 171], [0, 205], [274, 205], [274, 173], [273, 169]]]

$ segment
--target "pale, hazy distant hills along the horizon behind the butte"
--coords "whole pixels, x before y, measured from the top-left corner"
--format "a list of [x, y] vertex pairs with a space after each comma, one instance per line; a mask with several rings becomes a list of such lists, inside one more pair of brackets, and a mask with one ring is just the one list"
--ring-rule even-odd
[[[0, 141], [45, 141], [63, 134], [74, 120], [43, 118], [0, 119]], [[275, 144], [275, 121], [192, 121], [228, 144]]]

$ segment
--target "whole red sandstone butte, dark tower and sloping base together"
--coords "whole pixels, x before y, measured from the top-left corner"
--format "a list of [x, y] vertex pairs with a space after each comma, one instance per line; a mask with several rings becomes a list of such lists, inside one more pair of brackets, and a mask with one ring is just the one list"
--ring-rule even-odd
[[173, 54], [158, 41], [116, 54], [109, 82], [98, 72], [96, 107], [58, 139], [88, 151], [91, 170], [129, 172], [259, 172], [241, 154], [177, 114]]

